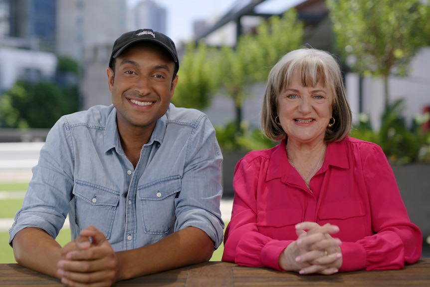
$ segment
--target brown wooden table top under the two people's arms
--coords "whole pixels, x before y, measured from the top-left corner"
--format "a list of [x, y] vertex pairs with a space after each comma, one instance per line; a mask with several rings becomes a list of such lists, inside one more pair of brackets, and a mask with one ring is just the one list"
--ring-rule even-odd
[[[0, 264], [0, 286], [60, 287], [60, 281], [24, 268], [18, 264]], [[132, 280], [115, 287], [235, 287], [235, 286], [430, 286], [430, 258], [421, 259], [403, 270], [358, 271], [325, 275], [299, 275], [265, 268], [241, 267], [227, 262], [206, 262]]]

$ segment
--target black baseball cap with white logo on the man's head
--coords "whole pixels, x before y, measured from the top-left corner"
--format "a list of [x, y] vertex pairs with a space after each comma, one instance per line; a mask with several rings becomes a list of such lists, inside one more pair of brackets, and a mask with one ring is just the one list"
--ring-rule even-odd
[[112, 47], [112, 54], [109, 59], [109, 67], [112, 68], [113, 60], [118, 57], [128, 46], [136, 42], [153, 42], [161, 45], [172, 56], [175, 62], [175, 74], [179, 70], [178, 52], [176, 51], [175, 43], [171, 38], [163, 33], [154, 31], [152, 29], [139, 29], [122, 34], [115, 40]]

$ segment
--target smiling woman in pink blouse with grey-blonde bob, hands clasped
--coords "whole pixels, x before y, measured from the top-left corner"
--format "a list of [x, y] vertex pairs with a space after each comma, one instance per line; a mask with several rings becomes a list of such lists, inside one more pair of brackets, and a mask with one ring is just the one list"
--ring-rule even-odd
[[223, 261], [330, 275], [420, 259], [421, 231], [383, 151], [348, 137], [351, 122], [332, 55], [298, 49], [273, 66], [261, 127], [280, 144], [236, 165]]

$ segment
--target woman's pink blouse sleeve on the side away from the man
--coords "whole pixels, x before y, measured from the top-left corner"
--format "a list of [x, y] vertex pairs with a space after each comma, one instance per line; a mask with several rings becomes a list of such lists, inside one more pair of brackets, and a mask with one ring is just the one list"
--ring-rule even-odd
[[375, 234], [343, 243], [340, 271], [402, 269], [405, 263], [417, 262], [423, 236], [408, 217], [391, 166], [379, 146], [364, 153], [363, 175]]

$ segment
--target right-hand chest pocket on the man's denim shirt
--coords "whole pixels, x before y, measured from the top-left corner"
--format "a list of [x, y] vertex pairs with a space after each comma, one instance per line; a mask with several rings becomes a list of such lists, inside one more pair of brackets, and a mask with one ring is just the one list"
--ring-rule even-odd
[[173, 176], [139, 186], [144, 231], [147, 234], [170, 234], [174, 231], [175, 198], [181, 191], [181, 177]]

